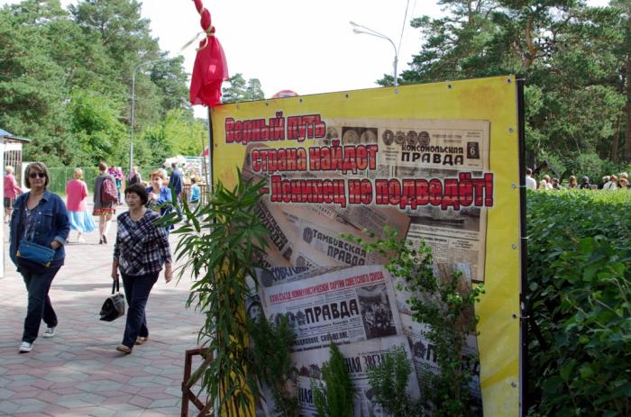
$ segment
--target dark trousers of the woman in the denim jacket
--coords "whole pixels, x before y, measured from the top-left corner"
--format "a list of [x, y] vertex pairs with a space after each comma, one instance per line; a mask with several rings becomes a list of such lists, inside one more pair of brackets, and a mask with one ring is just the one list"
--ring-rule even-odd
[[42, 319], [49, 327], [57, 326], [57, 314], [52, 309], [48, 292], [52, 279], [57, 275], [60, 267], [21, 267], [20, 272], [29, 293], [22, 341], [32, 343], [37, 339]]

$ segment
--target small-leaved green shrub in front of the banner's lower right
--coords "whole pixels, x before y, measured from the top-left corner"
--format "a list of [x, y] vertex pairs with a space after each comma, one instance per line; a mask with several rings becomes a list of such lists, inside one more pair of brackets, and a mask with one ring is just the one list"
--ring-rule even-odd
[[[374, 233], [369, 233], [375, 239]], [[427, 370], [419, 375], [423, 400], [431, 404], [434, 416], [466, 416], [477, 413], [471, 405], [469, 385], [473, 379], [470, 362], [463, 350], [467, 336], [476, 331], [478, 317], [473, 308], [484, 294], [483, 286], [462, 286], [462, 273], [443, 280], [434, 276], [432, 249], [421, 241], [418, 248], [398, 231], [384, 228], [383, 237], [374, 241], [343, 235], [361, 244], [367, 253], [389, 256], [386, 266], [393, 276], [402, 278], [398, 291], [409, 294], [407, 303], [416, 322], [429, 326], [426, 337], [435, 347], [441, 369], [436, 375]]]

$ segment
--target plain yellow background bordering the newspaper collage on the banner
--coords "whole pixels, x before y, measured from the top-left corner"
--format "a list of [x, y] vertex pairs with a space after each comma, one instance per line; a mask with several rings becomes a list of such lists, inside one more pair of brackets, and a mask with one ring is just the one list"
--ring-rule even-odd
[[[212, 111], [213, 176], [224, 186], [236, 182], [245, 146], [225, 143], [224, 119], [270, 119], [320, 114], [332, 118], [477, 119], [490, 122], [490, 172], [494, 206], [488, 208], [485, 289], [480, 316], [480, 385], [485, 416], [519, 413], [519, 160], [516, 78], [490, 77], [416, 86], [306, 95], [241, 104]], [[268, 141], [287, 147], [292, 141]], [[304, 141], [308, 147], [313, 141]]]

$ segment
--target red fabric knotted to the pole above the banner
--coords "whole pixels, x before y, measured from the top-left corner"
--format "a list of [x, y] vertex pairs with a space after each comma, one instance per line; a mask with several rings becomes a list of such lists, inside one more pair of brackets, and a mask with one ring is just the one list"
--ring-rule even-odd
[[193, 0], [201, 15], [201, 25], [206, 37], [199, 42], [193, 76], [190, 81], [190, 103], [210, 107], [221, 103], [221, 85], [228, 79], [228, 64], [224, 49], [215, 37], [215, 27], [211, 24], [210, 12], [201, 0]]

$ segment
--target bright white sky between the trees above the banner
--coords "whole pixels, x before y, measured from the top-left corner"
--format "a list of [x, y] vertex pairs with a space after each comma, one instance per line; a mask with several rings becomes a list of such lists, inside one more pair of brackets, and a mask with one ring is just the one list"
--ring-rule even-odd
[[[0, 5], [11, 3], [19, 0], [0, 0]], [[62, 5], [69, 3], [76, 0], [61, 0]], [[608, 0], [588, 3], [607, 5]], [[353, 33], [349, 22], [394, 42], [400, 74], [423, 42], [420, 32], [410, 27], [410, 19], [441, 15], [433, 0], [206, 0], [204, 4], [224, 46], [230, 74], [259, 78], [266, 97], [283, 89], [310, 95], [375, 87], [376, 80], [393, 73], [395, 49], [389, 41]], [[195, 45], [181, 48], [201, 31], [194, 3], [144, 0], [142, 15], [151, 20], [160, 48], [170, 57], [183, 55], [187, 72], [192, 72]], [[196, 107], [198, 116], [206, 113]]]

